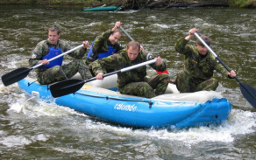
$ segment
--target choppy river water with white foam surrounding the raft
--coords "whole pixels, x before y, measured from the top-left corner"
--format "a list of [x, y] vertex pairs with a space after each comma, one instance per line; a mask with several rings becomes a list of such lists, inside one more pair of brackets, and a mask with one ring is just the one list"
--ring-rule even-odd
[[[239, 80], [256, 88], [256, 10], [181, 8], [82, 12], [82, 6], [0, 6], [0, 75], [28, 66], [47, 28], [56, 24], [70, 45], [90, 42], [117, 20], [147, 51], [167, 61], [171, 79], [183, 57], [174, 43], [190, 28], [212, 39], [211, 48]], [[124, 34], [123, 34], [124, 35]], [[127, 36], [122, 44], [129, 41]], [[189, 42], [196, 43], [195, 39]], [[66, 58], [66, 62], [68, 61]], [[149, 71], [153, 73], [153, 71]], [[31, 72], [34, 77], [35, 73]], [[255, 159], [256, 112], [236, 80], [215, 73], [217, 91], [231, 101], [227, 122], [191, 129], [132, 129], [31, 97], [17, 83], [0, 82], [1, 159]]]

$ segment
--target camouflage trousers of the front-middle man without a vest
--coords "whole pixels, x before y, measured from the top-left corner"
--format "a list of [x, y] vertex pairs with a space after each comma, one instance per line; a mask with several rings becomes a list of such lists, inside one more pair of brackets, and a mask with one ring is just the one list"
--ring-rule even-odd
[[137, 95], [140, 97], [153, 98], [157, 95], [164, 94], [169, 76], [165, 73], [155, 75], [143, 82], [132, 82], [120, 89], [121, 94]]

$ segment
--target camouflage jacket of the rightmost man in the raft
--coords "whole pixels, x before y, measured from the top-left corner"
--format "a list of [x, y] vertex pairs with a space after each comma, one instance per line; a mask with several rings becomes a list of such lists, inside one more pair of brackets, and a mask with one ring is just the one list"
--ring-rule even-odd
[[196, 46], [187, 45], [188, 40], [185, 38], [179, 39], [175, 44], [175, 51], [185, 55], [184, 70], [190, 76], [196, 79], [209, 80], [213, 76], [214, 70], [218, 73], [223, 73], [227, 76], [227, 71], [216, 57], [208, 52], [202, 59]]

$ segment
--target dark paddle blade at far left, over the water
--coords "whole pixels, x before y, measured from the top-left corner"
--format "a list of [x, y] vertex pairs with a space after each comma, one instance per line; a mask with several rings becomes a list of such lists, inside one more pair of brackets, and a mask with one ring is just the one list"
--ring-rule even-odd
[[33, 68], [21, 67], [16, 70], [6, 73], [2, 76], [4, 86], [9, 86], [18, 80], [24, 79]]

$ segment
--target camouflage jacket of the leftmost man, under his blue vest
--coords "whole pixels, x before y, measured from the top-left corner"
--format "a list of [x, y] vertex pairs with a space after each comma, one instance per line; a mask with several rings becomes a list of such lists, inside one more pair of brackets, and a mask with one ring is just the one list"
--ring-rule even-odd
[[[55, 48], [55, 49], [60, 47], [62, 53], [67, 52], [68, 50], [71, 49], [71, 47], [68, 45], [68, 42], [65, 42], [62, 40], [59, 40], [57, 45], [51, 45], [49, 39], [43, 40], [43, 41], [39, 42], [39, 44], [33, 50], [31, 58], [29, 59], [30, 66], [38, 65], [40, 63], [40, 61], [43, 60], [42, 58], [48, 54], [50, 46], [53, 46], [53, 48]], [[75, 59], [82, 59], [82, 57], [84, 56], [86, 51], [87, 51], [87, 49], [81, 48], [74, 52], [68, 53], [68, 55]], [[47, 68], [39, 66], [36, 69], [36, 73], [42, 73], [42, 72], [46, 71], [46, 69]]]

